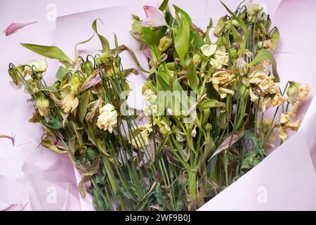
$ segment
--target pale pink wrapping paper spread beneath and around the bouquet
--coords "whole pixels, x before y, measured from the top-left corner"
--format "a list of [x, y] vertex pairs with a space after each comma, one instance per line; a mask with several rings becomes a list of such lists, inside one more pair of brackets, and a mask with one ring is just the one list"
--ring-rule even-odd
[[[14, 134], [16, 143], [21, 145], [13, 147], [10, 141], [0, 139], [0, 210], [93, 210], [91, 196], [84, 200], [79, 198], [77, 182], [80, 176], [77, 171], [74, 172], [67, 156], [38, 148], [43, 130], [38, 124], [27, 122], [32, 116], [32, 103], [26, 103], [27, 95], [22, 91], [13, 90], [8, 84], [9, 77], [6, 75], [8, 63], [27, 63], [34, 58], [41, 58], [23, 49], [19, 43], [47, 45], [57, 43], [62, 50], [72, 56], [74, 44], [91, 37], [92, 20], [101, 18], [105, 26], [98, 24], [98, 30], [109, 39], [110, 44], [113, 46], [113, 34], [117, 34], [119, 44], [131, 47], [136, 51], [141, 63], [146, 65], [145, 58], [138, 51], [136, 41], [133, 41], [128, 33], [131, 25], [130, 14], [143, 15], [145, 18], [142, 5], [157, 6], [159, 2], [161, 1], [93, 0], [77, 4], [74, 0], [67, 3], [61, 0], [13, 0], [6, 2], [5, 5], [4, 1], [0, 2], [2, 30], [12, 22], [39, 21], [9, 37], [0, 35], [1, 49], [6, 55], [0, 63], [2, 74], [0, 101], [1, 108], [4, 108], [0, 110], [0, 134]], [[239, 4], [239, 1], [224, 2], [230, 8], [235, 8]], [[312, 167], [312, 160], [316, 165], [316, 142], [313, 137], [316, 125], [316, 100], [310, 103], [316, 90], [313, 72], [316, 48], [310, 43], [315, 39], [316, 32], [311, 27], [306, 27], [316, 22], [316, 1], [258, 2], [267, 5], [273, 25], [277, 25], [281, 33], [280, 44], [275, 53], [278, 71], [283, 81], [281, 86], [285, 85], [285, 80], [310, 84], [310, 97], [300, 105], [298, 117], [303, 118], [306, 111], [307, 113], [298, 134], [291, 136], [260, 165], [226, 188], [200, 210], [316, 209], [315, 170]], [[47, 17], [47, 7], [51, 3], [57, 6], [57, 15], [60, 16], [57, 18], [57, 26], [55, 21], [48, 20]], [[130, 6], [131, 4], [134, 6]], [[213, 18], [213, 24], [216, 24], [216, 18], [226, 14], [218, 1], [170, 1], [169, 5], [171, 4], [176, 4], [190, 13], [192, 21], [202, 29], [208, 25], [210, 16]], [[105, 9], [96, 10], [99, 8]], [[12, 11], [16, 13], [13, 14]], [[94, 39], [88, 44], [80, 45], [78, 49], [83, 55], [96, 53], [100, 49], [100, 44], [98, 39]], [[122, 54], [122, 58], [124, 68], [135, 67], [127, 53]], [[48, 65], [47, 77], [48, 80], [53, 80], [58, 63], [48, 60]], [[144, 74], [129, 76], [130, 84], [135, 86], [134, 96], [140, 93], [138, 85], [142, 84], [145, 77]], [[129, 103], [134, 104], [135, 108], [141, 107], [139, 101]], [[300, 143], [300, 146], [294, 149], [296, 143]], [[296, 170], [293, 170], [294, 168]], [[258, 198], [261, 202], [265, 202], [265, 197], [260, 195], [265, 191], [268, 193], [268, 203], [259, 204]], [[53, 193], [56, 193], [57, 198], [53, 198]], [[291, 202], [287, 201], [287, 197]]]

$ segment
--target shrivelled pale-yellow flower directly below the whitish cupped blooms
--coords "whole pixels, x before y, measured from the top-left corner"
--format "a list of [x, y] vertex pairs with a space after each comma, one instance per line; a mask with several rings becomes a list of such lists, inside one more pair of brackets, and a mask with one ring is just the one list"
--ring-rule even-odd
[[211, 82], [214, 89], [216, 89], [220, 95], [220, 98], [225, 98], [227, 94], [234, 94], [234, 91], [227, 89], [227, 87], [232, 84], [232, 82], [235, 82], [234, 77], [235, 75], [232, 75], [225, 70], [218, 71], [213, 74], [213, 77], [211, 77]]

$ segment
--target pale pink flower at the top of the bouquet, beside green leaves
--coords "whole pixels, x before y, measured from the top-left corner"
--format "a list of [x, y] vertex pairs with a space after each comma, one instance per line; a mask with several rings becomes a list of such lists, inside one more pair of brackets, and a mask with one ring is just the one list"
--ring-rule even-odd
[[143, 27], [168, 26], [166, 20], [164, 19], [164, 13], [162, 13], [162, 11], [160, 11], [158, 8], [144, 6], [144, 10], [146, 13], [146, 19], [141, 23]]

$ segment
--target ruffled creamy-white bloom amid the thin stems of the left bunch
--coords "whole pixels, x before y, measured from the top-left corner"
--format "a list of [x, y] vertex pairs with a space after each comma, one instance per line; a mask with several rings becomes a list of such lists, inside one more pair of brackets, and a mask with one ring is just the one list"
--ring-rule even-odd
[[110, 133], [112, 133], [113, 127], [117, 127], [117, 110], [110, 103], [100, 108], [97, 126], [100, 129], [108, 130]]

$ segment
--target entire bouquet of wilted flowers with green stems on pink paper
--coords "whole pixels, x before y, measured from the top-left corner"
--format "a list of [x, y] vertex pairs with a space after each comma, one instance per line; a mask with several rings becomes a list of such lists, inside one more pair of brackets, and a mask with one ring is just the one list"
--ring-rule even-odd
[[[144, 6], [143, 21], [133, 15], [131, 34], [150, 71], [116, 37], [110, 49], [98, 20], [92, 28], [102, 53], [96, 56], [77, 56], [78, 44], [74, 60], [56, 46], [22, 44], [60, 61], [53, 84], [45, 82], [44, 59], [9, 65], [12, 84], [24, 86], [34, 102], [29, 122], [45, 129], [41, 145], [69, 156], [82, 175], [79, 192], [91, 193], [98, 210], [195, 210], [261, 162], [275, 131], [282, 142], [298, 129], [297, 103], [309, 89], [298, 82], [277, 86], [272, 51], [279, 31], [270, 30], [261, 5], [235, 12], [223, 6], [229, 15], [215, 29], [210, 20], [205, 32], [177, 6], [173, 17], [166, 0], [159, 9]], [[124, 70], [121, 51], [149, 73], [145, 123], [126, 103], [126, 75], [138, 70]], [[275, 110], [272, 119], [268, 108]]]

